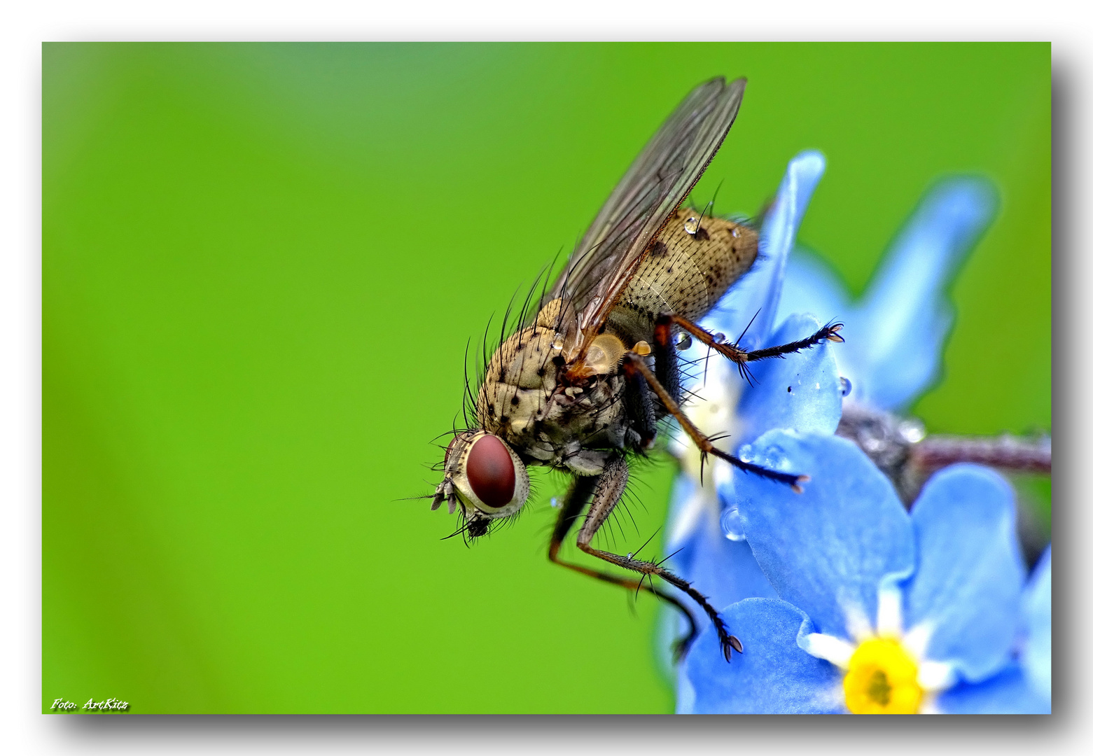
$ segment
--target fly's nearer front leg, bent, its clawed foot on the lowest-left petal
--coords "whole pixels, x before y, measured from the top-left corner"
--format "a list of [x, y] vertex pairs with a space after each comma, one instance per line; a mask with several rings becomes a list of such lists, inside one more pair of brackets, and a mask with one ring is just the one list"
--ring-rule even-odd
[[[717, 610], [710, 605], [709, 600], [706, 599], [706, 596], [692, 588], [691, 583], [668, 571], [655, 562], [635, 559], [632, 554], [621, 556], [619, 554], [612, 554], [611, 552], [604, 552], [592, 547], [592, 536], [596, 535], [596, 531], [598, 531], [600, 527], [607, 522], [608, 517], [611, 515], [611, 510], [614, 509], [616, 504], [619, 504], [619, 499], [622, 498], [623, 491], [626, 489], [626, 480], [628, 477], [630, 469], [626, 466], [626, 460], [622, 457], [616, 457], [603, 469], [603, 472], [600, 474], [599, 481], [596, 484], [596, 492], [592, 494], [592, 504], [588, 508], [588, 517], [585, 518], [585, 523], [577, 533], [577, 546], [586, 554], [591, 554], [592, 556], [603, 559], [604, 562], [610, 562], [613, 565], [632, 569], [635, 572], [640, 572], [643, 579], [644, 576], [649, 576], [650, 579], [654, 576], [661, 578], [694, 599], [695, 603], [702, 606], [703, 611], [709, 617], [709, 621], [714, 624], [714, 628], [717, 630], [717, 637], [721, 642], [721, 653], [725, 654], [725, 661], [729, 661], [729, 657], [733, 650], [738, 653], [743, 652], [743, 646], [740, 645], [740, 640], [736, 636], [729, 635], [729, 630], [725, 627], [725, 622], [717, 613]], [[638, 584], [642, 584], [642, 582], [643, 581], [639, 580]], [[677, 605], [679, 604], [677, 603]], [[690, 642], [693, 639], [694, 621], [692, 619], [691, 634], [681, 642], [685, 642], [690, 646]], [[683, 649], [683, 652], [685, 652], [685, 648]]]

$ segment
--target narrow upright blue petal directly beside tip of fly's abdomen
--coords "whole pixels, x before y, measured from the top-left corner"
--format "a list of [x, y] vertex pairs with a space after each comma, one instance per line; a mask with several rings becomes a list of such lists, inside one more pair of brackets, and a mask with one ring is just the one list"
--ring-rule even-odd
[[[717, 309], [704, 319], [707, 328], [733, 340], [747, 329], [747, 334], [740, 338], [740, 346], [745, 350], [766, 343], [778, 311], [786, 258], [823, 172], [824, 157], [819, 152], [806, 151], [789, 161], [774, 206], [763, 221], [759, 258]], [[755, 320], [749, 328], [753, 317]]]

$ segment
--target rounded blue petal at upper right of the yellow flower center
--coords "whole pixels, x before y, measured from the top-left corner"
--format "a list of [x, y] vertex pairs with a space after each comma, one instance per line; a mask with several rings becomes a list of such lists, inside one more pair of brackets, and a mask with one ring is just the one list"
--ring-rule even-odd
[[933, 626], [927, 659], [950, 662], [971, 682], [1009, 659], [1025, 570], [1013, 491], [975, 464], [935, 474], [910, 510], [918, 569], [906, 587], [905, 625]]

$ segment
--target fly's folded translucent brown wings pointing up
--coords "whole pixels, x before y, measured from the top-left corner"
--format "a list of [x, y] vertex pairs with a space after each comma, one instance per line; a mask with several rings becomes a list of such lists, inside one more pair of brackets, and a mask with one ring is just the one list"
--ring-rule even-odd
[[584, 356], [668, 218], [721, 146], [740, 109], [747, 80], [701, 84], [672, 111], [611, 192], [559, 276], [573, 333], [569, 362]]

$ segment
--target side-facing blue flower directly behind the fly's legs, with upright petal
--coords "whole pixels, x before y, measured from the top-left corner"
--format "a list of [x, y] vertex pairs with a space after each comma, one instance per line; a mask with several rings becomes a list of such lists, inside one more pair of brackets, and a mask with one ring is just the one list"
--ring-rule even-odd
[[[824, 158], [818, 152], [803, 152], [790, 161], [763, 224], [760, 258], [703, 321], [707, 330], [755, 349], [803, 338], [820, 327], [811, 316], [794, 315], [772, 333], [789, 252], [823, 172]], [[691, 358], [702, 357], [698, 349], [693, 347]], [[701, 370], [702, 377], [687, 386], [696, 398], [687, 413], [708, 435], [727, 435], [719, 444], [731, 445], [730, 451], [771, 428], [832, 434], [838, 426], [839, 371], [826, 341], [787, 359], [756, 363], [750, 383], [726, 359], [705, 359]], [[733, 469], [718, 459], [703, 463], [686, 437], [680, 438], [673, 451], [684, 471], [675, 482], [669, 518], [668, 546], [673, 552], [682, 550], [672, 560], [673, 568], [701, 586], [715, 606], [750, 596], [773, 598], [774, 589], [732, 528]]]

